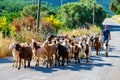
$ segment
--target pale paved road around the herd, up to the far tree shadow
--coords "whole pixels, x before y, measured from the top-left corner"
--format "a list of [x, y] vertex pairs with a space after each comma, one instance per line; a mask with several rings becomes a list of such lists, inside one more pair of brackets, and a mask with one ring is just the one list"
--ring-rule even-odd
[[102, 51], [100, 56], [92, 52], [90, 63], [70, 64], [64, 67], [34, 67], [17, 70], [12, 58], [0, 59], [0, 80], [120, 80], [120, 32], [111, 32], [109, 57]]

